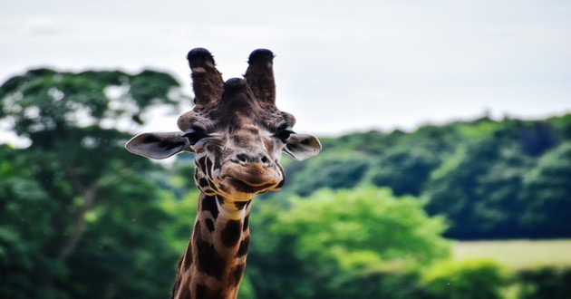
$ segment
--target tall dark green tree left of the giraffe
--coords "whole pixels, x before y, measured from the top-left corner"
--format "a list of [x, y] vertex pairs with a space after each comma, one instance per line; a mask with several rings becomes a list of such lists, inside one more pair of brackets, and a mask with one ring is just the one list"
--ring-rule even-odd
[[[29, 147], [0, 148], [0, 294], [6, 298], [159, 298], [176, 254], [169, 216], [147, 173], [123, 149], [179, 83], [144, 71], [38, 69], [0, 87], [0, 121]], [[160, 254], [159, 254], [160, 253]]]

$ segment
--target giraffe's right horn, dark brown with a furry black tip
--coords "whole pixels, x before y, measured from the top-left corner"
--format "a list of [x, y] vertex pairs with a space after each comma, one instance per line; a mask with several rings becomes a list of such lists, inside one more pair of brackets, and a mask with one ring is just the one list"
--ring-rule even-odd
[[248, 58], [244, 78], [260, 103], [276, 104], [276, 81], [274, 80], [274, 53], [257, 49]]

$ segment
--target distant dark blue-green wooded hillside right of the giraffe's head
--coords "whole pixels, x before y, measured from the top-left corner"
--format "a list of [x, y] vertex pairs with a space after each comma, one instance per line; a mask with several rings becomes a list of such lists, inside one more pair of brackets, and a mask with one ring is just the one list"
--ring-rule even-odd
[[318, 157], [286, 165], [286, 192], [373, 184], [426, 200], [430, 215], [448, 219], [451, 238], [571, 236], [570, 114], [321, 140]]

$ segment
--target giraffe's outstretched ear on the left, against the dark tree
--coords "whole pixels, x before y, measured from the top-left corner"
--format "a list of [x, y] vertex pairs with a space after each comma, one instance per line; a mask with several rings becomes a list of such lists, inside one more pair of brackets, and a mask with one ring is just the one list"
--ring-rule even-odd
[[150, 159], [165, 159], [180, 151], [189, 150], [189, 140], [182, 132], [143, 133], [127, 142], [125, 148]]

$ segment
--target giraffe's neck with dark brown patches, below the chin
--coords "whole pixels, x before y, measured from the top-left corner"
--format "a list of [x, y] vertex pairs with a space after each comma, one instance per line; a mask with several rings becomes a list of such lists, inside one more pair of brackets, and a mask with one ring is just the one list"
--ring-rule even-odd
[[236, 298], [250, 239], [250, 201], [200, 193], [189, 246], [171, 298]]

